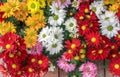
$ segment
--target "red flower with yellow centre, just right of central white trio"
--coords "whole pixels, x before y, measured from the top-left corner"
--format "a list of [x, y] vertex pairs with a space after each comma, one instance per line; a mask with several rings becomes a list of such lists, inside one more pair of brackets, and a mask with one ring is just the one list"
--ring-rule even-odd
[[65, 41], [65, 47], [68, 50], [76, 51], [77, 48], [80, 46], [80, 44], [81, 44], [80, 39], [76, 39], [76, 38], [72, 38], [71, 40]]

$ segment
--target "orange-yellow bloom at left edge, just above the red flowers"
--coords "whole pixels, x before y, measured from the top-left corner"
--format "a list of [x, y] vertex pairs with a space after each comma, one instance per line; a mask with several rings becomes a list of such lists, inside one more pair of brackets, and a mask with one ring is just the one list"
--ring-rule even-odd
[[16, 27], [11, 22], [0, 23], [0, 34], [4, 35], [7, 32], [16, 32]]

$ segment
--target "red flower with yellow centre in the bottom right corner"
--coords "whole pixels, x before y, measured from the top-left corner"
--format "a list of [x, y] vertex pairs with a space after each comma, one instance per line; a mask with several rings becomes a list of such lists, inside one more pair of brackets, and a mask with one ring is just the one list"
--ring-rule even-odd
[[109, 71], [113, 73], [113, 75], [120, 76], [120, 59], [111, 61], [109, 64]]

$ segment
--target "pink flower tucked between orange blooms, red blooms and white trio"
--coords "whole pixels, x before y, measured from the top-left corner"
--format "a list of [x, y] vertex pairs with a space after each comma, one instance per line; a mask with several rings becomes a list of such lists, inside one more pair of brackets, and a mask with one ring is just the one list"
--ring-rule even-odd
[[41, 42], [37, 42], [37, 44], [35, 46], [33, 46], [30, 51], [28, 51], [29, 54], [33, 54], [33, 55], [39, 55], [42, 53], [42, 43]]

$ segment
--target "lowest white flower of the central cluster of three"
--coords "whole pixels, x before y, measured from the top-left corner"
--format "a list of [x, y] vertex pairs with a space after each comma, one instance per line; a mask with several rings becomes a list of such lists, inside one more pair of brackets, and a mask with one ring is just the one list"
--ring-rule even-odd
[[54, 55], [60, 52], [63, 49], [62, 42], [54, 40], [49, 42], [46, 46], [46, 50], [49, 51], [50, 55]]

